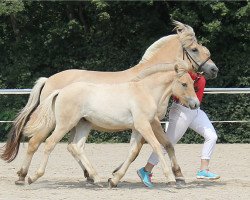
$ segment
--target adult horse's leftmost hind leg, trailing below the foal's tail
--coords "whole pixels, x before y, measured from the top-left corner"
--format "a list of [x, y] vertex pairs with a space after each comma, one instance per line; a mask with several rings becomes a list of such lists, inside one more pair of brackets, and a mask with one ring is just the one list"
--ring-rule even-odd
[[50, 130], [44, 129], [42, 132], [35, 134], [28, 142], [28, 149], [24, 157], [21, 169], [17, 172], [19, 179], [15, 182], [17, 185], [25, 183], [25, 177], [28, 173], [29, 166], [34, 153], [37, 151], [40, 144], [46, 139]]

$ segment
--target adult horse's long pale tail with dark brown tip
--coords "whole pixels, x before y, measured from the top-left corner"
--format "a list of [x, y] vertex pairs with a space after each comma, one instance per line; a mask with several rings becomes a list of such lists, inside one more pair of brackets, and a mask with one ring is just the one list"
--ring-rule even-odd
[[27, 120], [31, 113], [39, 104], [40, 93], [42, 88], [47, 81], [47, 78], [39, 78], [31, 90], [28, 103], [26, 106], [19, 112], [18, 116], [14, 120], [13, 127], [8, 134], [8, 140], [6, 144], [1, 149], [0, 157], [7, 161], [13, 161], [19, 151], [19, 145], [22, 138], [22, 130], [25, 126]]

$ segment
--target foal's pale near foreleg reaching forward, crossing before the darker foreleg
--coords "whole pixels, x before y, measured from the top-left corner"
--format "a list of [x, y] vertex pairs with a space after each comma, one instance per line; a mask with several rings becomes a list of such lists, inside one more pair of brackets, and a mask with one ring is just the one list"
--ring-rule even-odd
[[164, 158], [161, 145], [156, 139], [154, 132], [152, 130], [151, 124], [147, 119], [142, 116], [137, 117], [134, 122], [135, 129], [144, 137], [144, 139], [151, 145], [153, 151], [158, 155], [161, 162], [161, 167], [163, 174], [167, 178], [168, 183], [176, 182], [173, 174], [170, 172], [167, 162]]

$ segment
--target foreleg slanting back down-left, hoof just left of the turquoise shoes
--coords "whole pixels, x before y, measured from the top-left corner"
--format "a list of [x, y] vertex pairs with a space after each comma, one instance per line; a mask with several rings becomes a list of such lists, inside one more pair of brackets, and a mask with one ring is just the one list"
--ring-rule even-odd
[[109, 179], [109, 186], [116, 187], [119, 180], [125, 175], [126, 171], [128, 170], [129, 165], [135, 160], [138, 156], [141, 147], [144, 143], [144, 139], [142, 136], [137, 132], [133, 131], [130, 140], [130, 150], [128, 153], [128, 157], [125, 162], [119, 166], [115, 172], [113, 172], [114, 177]]

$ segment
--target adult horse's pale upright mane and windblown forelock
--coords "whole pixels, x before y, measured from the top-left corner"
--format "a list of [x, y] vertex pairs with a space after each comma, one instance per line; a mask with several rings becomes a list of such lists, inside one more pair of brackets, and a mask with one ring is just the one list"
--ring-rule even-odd
[[[188, 47], [193, 41], [197, 41], [195, 32], [191, 26], [178, 21], [173, 21], [173, 24], [175, 25], [174, 30], [176, 30], [183, 47]], [[172, 39], [172, 37], [173, 35], [165, 36], [154, 42], [147, 48], [139, 63], [145, 63], [150, 60], [167, 41]]]

